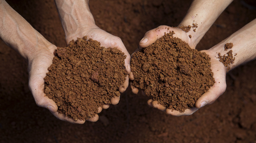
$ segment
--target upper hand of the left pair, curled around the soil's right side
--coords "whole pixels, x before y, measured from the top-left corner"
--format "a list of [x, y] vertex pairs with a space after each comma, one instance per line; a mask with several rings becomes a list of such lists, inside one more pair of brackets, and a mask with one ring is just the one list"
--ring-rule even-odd
[[[126, 50], [122, 40], [119, 37], [113, 36], [113, 35], [107, 33], [106, 31], [100, 29], [96, 25], [93, 25], [90, 28], [84, 28], [83, 30], [79, 30], [79, 33], [75, 33], [74, 35], [66, 36], [66, 42], [69, 43], [73, 39], [76, 40], [77, 37], [82, 38], [84, 36], [87, 36], [88, 40], [89, 40], [89, 38], [91, 38], [93, 40], [99, 41], [100, 45], [104, 46], [105, 48], [116, 47], [117, 49], [122, 51], [124, 53], [124, 55], [126, 55], [126, 59], [124, 60], [125, 69], [128, 74], [130, 73], [130, 71], [131, 71], [131, 69], [130, 69], [130, 54]], [[119, 91], [121, 93], [124, 92], [126, 90], [126, 88], [128, 87], [128, 85], [129, 85], [129, 76], [127, 75], [124, 84], [119, 87]], [[110, 102], [111, 102], [111, 104], [116, 105], [119, 102], [119, 100], [120, 100], [120, 96], [119, 97], [115, 96], [110, 99]], [[105, 109], [108, 107], [109, 107], [109, 105], [105, 105], [103, 108]]]

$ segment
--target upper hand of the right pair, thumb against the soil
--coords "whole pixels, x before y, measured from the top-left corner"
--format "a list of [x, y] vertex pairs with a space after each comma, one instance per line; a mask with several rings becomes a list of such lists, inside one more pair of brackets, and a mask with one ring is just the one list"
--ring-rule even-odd
[[[191, 38], [189, 38], [188, 33], [182, 31], [179, 28], [173, 28], [173, 27], [169, 27], [166, 25], [161, 25], [161, 26], [159, 26], [155, 29], [149, 30], [148, 32], [145, 33], [144, 37], [139, 42], [138, 49], [136, 49], [134, 51], [134, 53], [140, 51], [142, 48], [146, 48], [149, 45], [153, 44], [156, 40], [163, 37], [165, 33], [169, 33], [170, 31], [174, 31], [175, 34], [173, 35], [173, 37], [180, 38], [181, 40], [188, 43], [188, 45], [192, 49], [195, 49], [195, 47], [196, 47], [195, 42], [193, 42], [191, 40]], [[132, 54], [132, 56], [133, 56], [133, 54]], [[129, 78], [130, 78], [130, 80], [134, 80], [134, 76], [133, 76], [132, 72], [130, 73]], [[132, 83], [130, 83], [130, 85], [132, 88], [132, 92], [137, 94], [139, 92], [139, 89], [137, 87], [133, 87]]]

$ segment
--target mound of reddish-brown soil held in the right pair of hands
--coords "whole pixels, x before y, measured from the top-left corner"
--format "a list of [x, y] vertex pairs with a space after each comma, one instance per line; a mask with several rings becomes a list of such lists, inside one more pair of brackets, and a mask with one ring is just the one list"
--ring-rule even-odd
[[213, 84], [210, 57], [191, 49], [173, 31], [152, 45], [134, 53], [131, 71], [133, 86], [161, 105], [184, 112]]

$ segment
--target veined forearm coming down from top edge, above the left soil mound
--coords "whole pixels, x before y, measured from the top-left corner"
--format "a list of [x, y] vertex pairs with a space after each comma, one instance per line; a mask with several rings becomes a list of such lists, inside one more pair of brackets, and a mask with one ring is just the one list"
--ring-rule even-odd
[[89, 0], [55, 0], [66, 38], [95, 25]]

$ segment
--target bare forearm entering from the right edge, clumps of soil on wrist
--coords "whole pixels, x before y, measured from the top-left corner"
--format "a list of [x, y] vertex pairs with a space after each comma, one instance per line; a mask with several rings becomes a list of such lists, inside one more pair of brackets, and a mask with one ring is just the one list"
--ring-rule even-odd
[[209, 49], [213, 54], [218, 53], [225, 55], [227, 51], [224, 50], [226, 43], [233, 43], [232, 55], [235, 57], [234, 63], [229, 65], [230, 69], [233, 69], [241, 64], [244, 64], [250, 60], [256, 58], [256, 19], [246, 24], [243, 28]]

